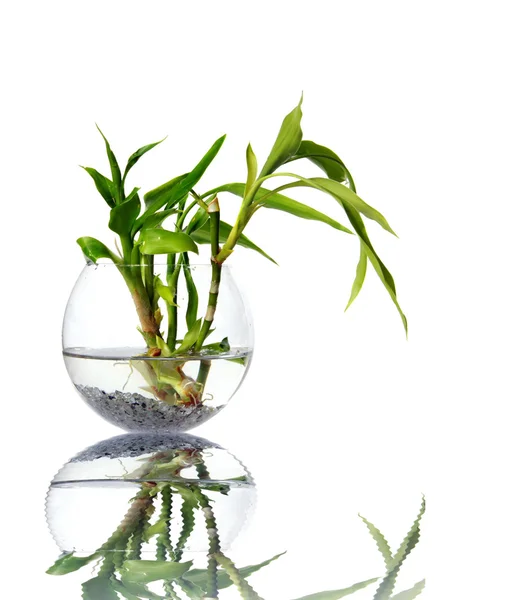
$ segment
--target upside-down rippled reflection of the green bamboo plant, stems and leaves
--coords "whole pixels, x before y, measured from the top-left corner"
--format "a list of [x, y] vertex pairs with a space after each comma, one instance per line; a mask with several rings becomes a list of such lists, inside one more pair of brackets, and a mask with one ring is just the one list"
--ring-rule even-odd
[[[182, 480], [181, 472], [196, 467], [199, 480]], [[135, 481], [146, 478], [131, 500], [123, 520], [110, 538], [93, 554], [80, 557], [68, 553], [48, 570], [64, 575], [96, 561], [95, 577], [83, 584], [83, 600], [210, 600], [218, 599], [220, 590], [234, 586], [244, 600], [262, 600], [248, 582], [253, 573], [277, 560], [281, 554], [260, 564], [238, 568], [220, 546], [219, 529], [208, 492], [227, 495], [230, 484], [211, 481], [201, 452], [172, 450], [160, 452], [127, 476]], [[238, 478], [240, 480], [241, 478]], [[172, 500], [181, 500], [181, 531], [174, 544], [171, 536]], [[374, 600], [413, 600], [424, 587], [424, 581], [413, 588], [392, 595], [403, 562], [419, 540], [419, 526], [424, 514], [424, 500], [419, 515], [395, 553], [383, 534], [363, 519], [377, 543], [386, 564], [386, 575], [369, 579], [341, 590], [330, 590], [305, 596], [299, 600], [337, 600], [379, 582]], [[193, 568], [191, 560], [183, 561], [185, 547], [194, 528], [197, 511], [204, 517], [208, 537], [208, 564]], [[157, 518], [152, 523], [154, 513]], [[155, 542], [155, 560], [143, 560], [143, 546]], [[148, 584], [162, 582], [163, 595], [152, 591]]]

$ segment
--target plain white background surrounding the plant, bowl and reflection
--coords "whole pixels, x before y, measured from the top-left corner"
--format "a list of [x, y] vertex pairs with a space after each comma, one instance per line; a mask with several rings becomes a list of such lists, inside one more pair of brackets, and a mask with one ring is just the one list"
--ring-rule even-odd
[[[340, 154], [361, 197], [400, 236], [370, 227], [409, 340], [372, 272], [343, 314], [353, 238], [261, 212], [248, 235], [280, 267], [247, 251], [232, 257], [255, 316], [254, 363], [230, 407], [197, 433], [257, 478], [255, 556], [307, 549], [295, 595], [377, 572], [356, 513], [396, 544], [424, 492], [424, 539], [403, 584], [428, 574], [432, 598], [514, 597], [516, 9], [496, 0], [2, 8], [4, 590], [75, 597], [77, 588], [42, 575], [56, 555], [45, 489], [68, 457], [117, 433], [76, 397], [60, 356], [83, 264], [75, 239], [111, 239], [106, 206], [77, 166], [107, 170], [94, 123], [122, 158], [169, 135], [135, 167], [132, 183], [144, 190], [188, 170], [227, 133], [209, 189], [244, 179], [249, 141], [267, 155], [303, 90], [304, 137]], [[343, 218], [325, 197], [298, 198]], [[236, 200], [221, 204], [229, 220]], [[346, 580], [306, 566], [329, 556], [340, 564], [342, 549], [353, 561]]]

